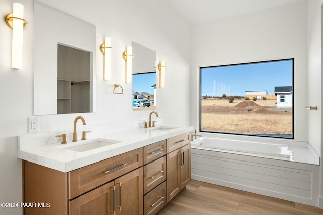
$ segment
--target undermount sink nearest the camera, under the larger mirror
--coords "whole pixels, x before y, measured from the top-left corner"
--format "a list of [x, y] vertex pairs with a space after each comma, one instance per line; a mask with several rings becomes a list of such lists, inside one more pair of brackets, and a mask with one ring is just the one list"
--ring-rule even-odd
[[71, 145], [69, 145], [69, 144], [64, 145], [64, 146], [60, 145], [58, 147], [65, 148], [65, 149], [72, 150], [72, 151], [84, 152], [84, 151], [89, 151], [92, 149], [101, 148], [101, 147], [112, 145], [112, 144], [119, 143], [119, 142], [121, 142], [121, 141], [108, 140], [108, 139], [95, 139], [90, 142], [82, 143], [80, 140], [75, 143], [70, 143]]

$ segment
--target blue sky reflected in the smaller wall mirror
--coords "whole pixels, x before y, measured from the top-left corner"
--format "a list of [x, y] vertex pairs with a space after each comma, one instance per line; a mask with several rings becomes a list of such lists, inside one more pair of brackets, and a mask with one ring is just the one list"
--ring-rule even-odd
[[141, 73], [132, 75], [132, 91], [154, 93], [151, 86], [156, 84], [156, 73]]

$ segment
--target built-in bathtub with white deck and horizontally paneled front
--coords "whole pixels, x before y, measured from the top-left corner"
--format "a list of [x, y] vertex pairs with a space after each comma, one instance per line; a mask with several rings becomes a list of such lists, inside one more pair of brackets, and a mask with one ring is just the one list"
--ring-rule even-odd
[[200, 137], [191, 142], [191, 178], [317, 207], [319, 156], [295, 144]]

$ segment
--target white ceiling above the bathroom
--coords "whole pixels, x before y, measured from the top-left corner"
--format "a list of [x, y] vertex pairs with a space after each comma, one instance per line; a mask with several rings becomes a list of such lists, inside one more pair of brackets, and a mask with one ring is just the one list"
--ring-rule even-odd
[[225, 19], [304, 0], [165, 0], [188, 23]]

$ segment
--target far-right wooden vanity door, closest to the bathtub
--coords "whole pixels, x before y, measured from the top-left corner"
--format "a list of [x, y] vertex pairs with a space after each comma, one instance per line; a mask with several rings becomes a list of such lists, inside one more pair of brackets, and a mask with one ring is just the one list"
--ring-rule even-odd
[[181, 189], [191, 181], [191, 144], [181, 148], [182, 166], [181, 166]]

